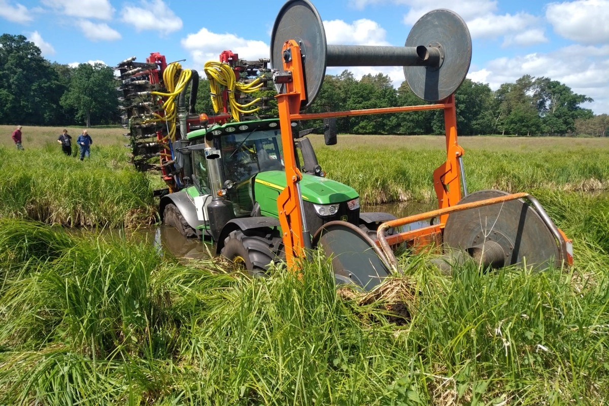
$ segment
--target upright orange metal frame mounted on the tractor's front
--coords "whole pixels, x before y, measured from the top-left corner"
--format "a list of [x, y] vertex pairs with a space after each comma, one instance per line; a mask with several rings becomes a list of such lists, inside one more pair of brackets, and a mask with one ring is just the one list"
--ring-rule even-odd
[[[454, 95], [447, 97], [439, 103], [418, 106], [403, 106], [389, 108], [371, 108], [365, 110], [348, 110], [331, 113], [301, 114], [300, 109], [306, 100], [305, 72], [303, 70], [300, 47], [294, 40], [286, 41], [283, 45], [283, 54], [292, 55], [283, 62], [284, 71], [290, 72], [291, 81], [285, 84], [284, 92], [276, 97], [278, 102], [281, 125], [281, 141], [284, 148], [284, 162], [286, 165], [286, 189], [277, 199], [279, 220], [283, 229], [283, 242], [286, 251], [286, 262], [289, 268], [297, 265], [297, 259], [303, 257], [305, 242], [308, 235], [303, 233], [305, 223], [301, 210], [301, 197], [298, 182], [302, 174], [296, 166], [294, 139], [292, 139], [293, 120], [323, 119], [326, 117], [362, 116], [367, 114], [401, 113], [404, 111], [444, 110], [446, 130], [446, 161], [434, 170], [434, 189], [438, 198], [440, 210], [454, 206], [461, 199], [460, 163], [463, 156], [462, 147], [457, 143], [457, 114], [455, 110]], [[405, 236], [409, 240], [432, 242], [448, 219], [448, 212], [439, 214], [440, 223], [419, 229]], [[392, 241], [396, 243], [397, 241]]]

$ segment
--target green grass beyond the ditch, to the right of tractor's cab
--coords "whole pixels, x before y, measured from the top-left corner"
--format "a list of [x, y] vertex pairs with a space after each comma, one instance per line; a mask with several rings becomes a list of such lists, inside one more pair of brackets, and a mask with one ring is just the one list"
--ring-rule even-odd
[[[329, 178], [356, 189], [365, 205], [377, 205], [435, 201], [433, 171], [446, 160], [446, 153], [422, 147], [320, 146], [317, 157]], [[518, 152], [473, 149], [463, 159], [469, 191], [609, 189], [608, 150], [573, 149], [565, 157], [541, 147]]]

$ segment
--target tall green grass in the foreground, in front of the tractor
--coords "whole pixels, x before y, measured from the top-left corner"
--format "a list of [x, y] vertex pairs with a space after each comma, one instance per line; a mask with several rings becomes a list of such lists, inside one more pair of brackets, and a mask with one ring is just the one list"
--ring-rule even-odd
[[[13, 237], [19, 234], [21, 237]], [[40, 231], [37, 231], [40, 229]], [[0, 404], [602, 404], [609, 256], [569, 271], [445, 275], [400, 258], [410, 318], [302, 275], [178, 264], [154, 247], [4, 220]], [[34, 233], [34, 234], [35, 234]], [[45, 248], [46, 245], [46, 248]], [[33, 247], [36, 247], [35, 249]], [[52, 249], [52, 247], [54, 247]], [[361, 306], [361, 303], [368, 303]]]

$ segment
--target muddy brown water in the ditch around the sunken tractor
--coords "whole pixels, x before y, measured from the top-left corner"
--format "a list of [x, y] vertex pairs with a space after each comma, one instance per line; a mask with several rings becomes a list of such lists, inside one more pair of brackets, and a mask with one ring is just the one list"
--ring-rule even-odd
[[[435, 209], [434, 205], [423, 203], [395, 203], [391, 205], [366, 206], [362, 211], [387, 212], [396, 217], [418, 214]], [[104, 238], [125, 239], [135, 243], [149, 243], [157, 248], [160, 254], [169, 254], [178, 258], [206, 259], [216, 253], [216, 246], [199, 239], [189, 239], [173, 228], [164, 225], [139, 228], [135, 230], [105, 229], [103, 231], [76, 231], [79, 233], [97, 233]]]

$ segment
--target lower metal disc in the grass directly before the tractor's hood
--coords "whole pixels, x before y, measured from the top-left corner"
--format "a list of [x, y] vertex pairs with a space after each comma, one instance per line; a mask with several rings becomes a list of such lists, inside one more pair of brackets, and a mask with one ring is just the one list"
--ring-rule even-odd
[[315, 233], [313, 246], [321, 246], [331, 258], [338, 284], [353, 283], [368, 291], [390, 274], [375, 242], [351, 223], [326, 223]]

